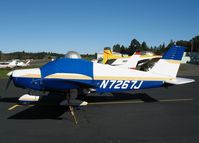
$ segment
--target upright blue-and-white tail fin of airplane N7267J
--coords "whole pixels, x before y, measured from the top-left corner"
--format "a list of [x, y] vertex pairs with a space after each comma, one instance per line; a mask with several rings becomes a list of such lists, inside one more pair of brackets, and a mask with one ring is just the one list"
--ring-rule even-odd
[[149, 72], [176, 77], [184, 50], [182, 46], [172, 46]]

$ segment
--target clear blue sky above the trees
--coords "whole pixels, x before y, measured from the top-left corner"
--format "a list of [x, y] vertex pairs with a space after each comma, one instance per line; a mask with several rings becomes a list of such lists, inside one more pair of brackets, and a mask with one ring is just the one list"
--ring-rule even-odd
[[95, 53], [199, 35], [198, 0], [0, 0], [0, 50]]

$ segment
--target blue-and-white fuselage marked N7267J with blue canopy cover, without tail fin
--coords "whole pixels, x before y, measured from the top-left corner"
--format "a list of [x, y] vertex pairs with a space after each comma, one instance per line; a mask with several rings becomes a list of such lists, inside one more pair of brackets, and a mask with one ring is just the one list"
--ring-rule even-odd
[[17, 87], [33, 90], [64, 91], [94, 88], [98, 92], [117, 92], [161, 87], [166, 76], [93, 63], [82, 59], [58, 59], [35, 69], [13, 71]]

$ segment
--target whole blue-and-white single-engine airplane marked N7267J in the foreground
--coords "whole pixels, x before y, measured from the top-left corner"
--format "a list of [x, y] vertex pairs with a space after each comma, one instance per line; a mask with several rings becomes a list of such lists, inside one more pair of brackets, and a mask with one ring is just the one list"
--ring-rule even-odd
[[[41, 68], [20, 69], [8, 73], [7, 87], [13, 81], [16, 87], [24, 89], [66, 93], [69, 109], [73, 113], [73, 95], [70, 93], [74, 89], [92, 88], [96, 92], [120, 92], [194, 82], [193, 79], [176, 77], [184, 50], [181, 46], [171, 47], [148, 72], [83, 59], [60, 58]], [[21, 101], [38, 99], [38, 96], [29, 94], [20, 98]]]

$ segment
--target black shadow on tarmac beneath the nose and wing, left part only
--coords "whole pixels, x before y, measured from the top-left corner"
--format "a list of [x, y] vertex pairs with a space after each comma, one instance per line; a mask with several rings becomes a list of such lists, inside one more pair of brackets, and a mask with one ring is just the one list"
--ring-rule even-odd
[[[18, 102], [19, 97], [6, 97], [0, 98], [0, 102], [7, 103], [16, 103]], [[48, 96], [42, 96], [41, 101], [35, 103], [33, 106], [28, 106], [25, 110], [16, 113], [8, 117], [8, 119], [55, 119], [61, 120], [60, 117], [62, 114], [69, 110], [66, 106], [59, 106], [59, 103], [64, 100], [62, 95], [52, 95], [51, 93]], [[26, 105], [24, 105], [26, 107]], [[20, 108], [20, 107], [19, 107]]]

